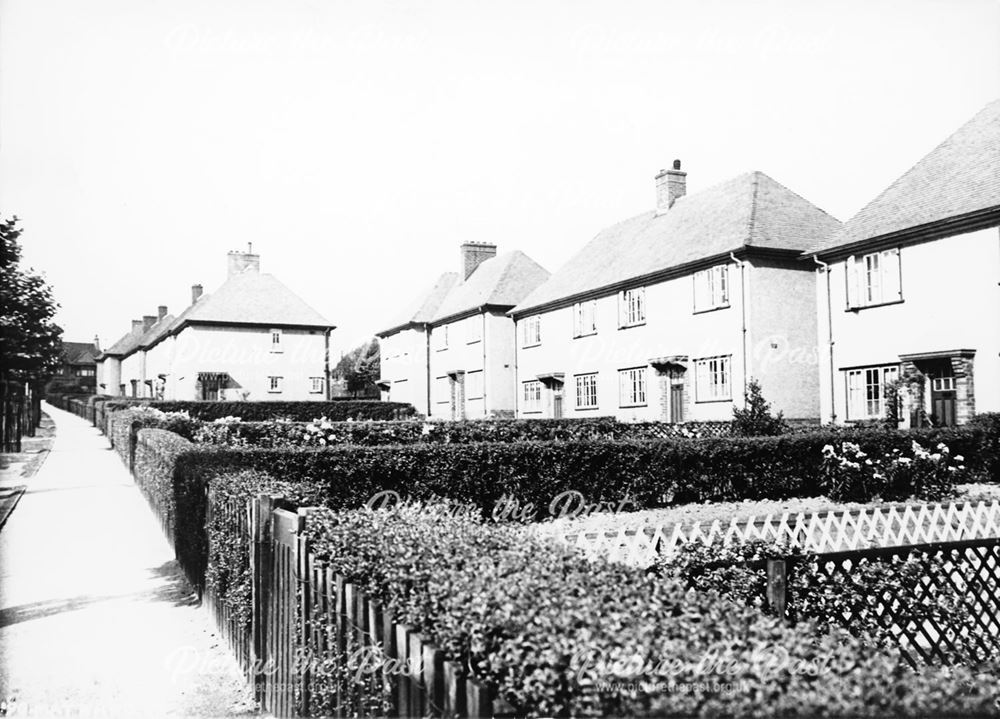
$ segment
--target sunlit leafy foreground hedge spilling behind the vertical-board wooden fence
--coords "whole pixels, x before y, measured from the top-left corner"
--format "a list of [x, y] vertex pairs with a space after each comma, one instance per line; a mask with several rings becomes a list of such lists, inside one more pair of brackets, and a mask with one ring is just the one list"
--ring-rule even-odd
[[[307, 534], [319, 559], [516, 715], [997, 711], [988, 674], [913, 672], [846, 632], [782, 626], [714, 592], [588, 562], [460, 510], [320, 511]], [[330, 678], [312, 677], [321, 709], [336, 701]]]

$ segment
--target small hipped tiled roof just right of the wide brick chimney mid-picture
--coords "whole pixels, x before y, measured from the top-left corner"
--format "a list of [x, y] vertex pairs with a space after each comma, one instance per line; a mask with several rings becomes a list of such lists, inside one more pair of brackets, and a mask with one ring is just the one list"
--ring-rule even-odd
[[549, 278], [548, 271], [519, 250], [506, 252], [479, 265], [448, 293], [433, 321], [482, 307], [513, 307]]

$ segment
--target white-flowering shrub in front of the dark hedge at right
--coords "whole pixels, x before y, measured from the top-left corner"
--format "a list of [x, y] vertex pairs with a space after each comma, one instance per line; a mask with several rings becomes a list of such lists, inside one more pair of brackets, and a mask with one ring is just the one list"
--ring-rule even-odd
[[896, 500], [914, 496], [940, 501], [955, 495], [955, 486], [968, 481], [962, 455], [952, 456], [939, 442], [933, 449], [912, 440], [907, 450], [889, 449], [871, 456], [854, 442], [823, 447], [821, 483], [828, 497], [838, 501]]

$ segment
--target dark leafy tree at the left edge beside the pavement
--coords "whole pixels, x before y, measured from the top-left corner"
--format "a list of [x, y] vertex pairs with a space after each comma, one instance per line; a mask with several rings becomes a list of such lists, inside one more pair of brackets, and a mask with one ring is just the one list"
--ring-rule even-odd
[[0, 361], [4, 383], [40, 386], [59, 364], [62, 329], [52, 288], [21, 267], [17, 218], [0, 221]]

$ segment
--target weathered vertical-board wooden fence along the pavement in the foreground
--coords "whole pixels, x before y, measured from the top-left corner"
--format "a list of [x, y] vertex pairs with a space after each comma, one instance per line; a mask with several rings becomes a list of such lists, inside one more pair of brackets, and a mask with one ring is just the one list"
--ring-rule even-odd
[[[245, 541], [252, 611], [203, 602], [264, 711], [292, 716], [493, 716], [486, 688], [310, 551], [309, 508], [208, 493], [208, 521]], [[320, 690], [317, 690], [320, 687]], [[367, 691], [366, 691], [367, 688]], [[499, 702], [497, 703], [499, 706]]]

